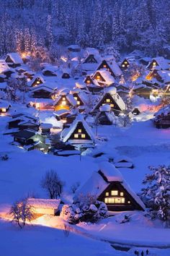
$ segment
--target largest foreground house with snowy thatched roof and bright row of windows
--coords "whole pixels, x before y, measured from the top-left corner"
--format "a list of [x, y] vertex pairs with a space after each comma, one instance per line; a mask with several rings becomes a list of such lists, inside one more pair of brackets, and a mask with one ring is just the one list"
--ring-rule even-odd
[[99, 163], [90, 179], [76, 192], [76, 197], [95, 195], [109, 211], [145, 210], [145, 205], [125, 182], [120, 171], [109, 162]]

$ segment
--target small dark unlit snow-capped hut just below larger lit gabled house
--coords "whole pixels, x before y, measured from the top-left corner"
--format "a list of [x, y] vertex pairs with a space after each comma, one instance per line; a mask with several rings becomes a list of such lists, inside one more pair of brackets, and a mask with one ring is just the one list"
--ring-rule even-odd
[[115, 114], [111, 112], [110, 106], [105, 104], [99, 108], [96, 119], [98, 124], [110, 125], [115, 121]]

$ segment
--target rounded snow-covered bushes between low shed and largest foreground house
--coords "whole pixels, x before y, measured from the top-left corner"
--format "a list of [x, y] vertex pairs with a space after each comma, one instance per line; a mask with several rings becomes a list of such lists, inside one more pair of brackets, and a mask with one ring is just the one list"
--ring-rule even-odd
[[93, 195], [79, 195], [72, 205], [63, 205], [61, 218], [72, 224], [81, 221], [95, 223], [107, 218], [107, 206]]

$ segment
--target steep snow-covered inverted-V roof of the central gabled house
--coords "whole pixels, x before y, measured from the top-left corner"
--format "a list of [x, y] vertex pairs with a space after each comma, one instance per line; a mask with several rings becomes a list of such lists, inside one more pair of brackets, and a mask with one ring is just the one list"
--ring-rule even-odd
[[84, 129], [86, 130], [86, 133], [89, 135], [89, 137], [91, 138], [92, 141], [95, 140], [94, 138], [94, 134], [91, 131], [91, 128], [89, 127], [89, 125], [86, 123], [86, 121], [84, 120], [84, 117], [79, 114], [78, 116], [76, 116], [76, 119], [73, 121], [73, 123], [71, 124], [71, 126], [69, 128], [65, 128], [63, 129], [63, 132], [61, 132], [61, 138], [63, 140], [63, 142], [66, 142], [69, 137], [71, 137], [71, 135], [73, 134], [73, 132], [75, 131], [77, 124], [81, 122], [81, 124], [83, 125]]

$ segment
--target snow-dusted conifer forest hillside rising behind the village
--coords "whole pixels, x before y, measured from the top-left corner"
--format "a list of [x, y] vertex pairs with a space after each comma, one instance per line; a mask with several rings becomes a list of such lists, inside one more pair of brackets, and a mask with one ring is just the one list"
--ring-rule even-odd
[[166, 0], [0, 0], [0, 55], [79, 43], [163, 54], [170, 42]]

